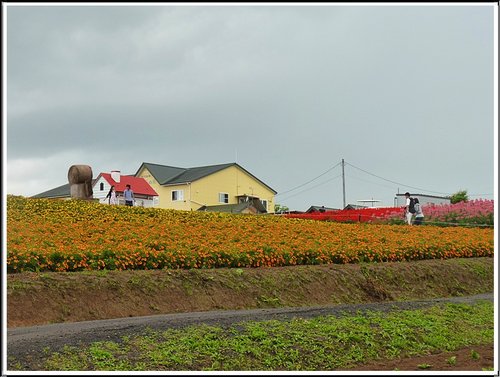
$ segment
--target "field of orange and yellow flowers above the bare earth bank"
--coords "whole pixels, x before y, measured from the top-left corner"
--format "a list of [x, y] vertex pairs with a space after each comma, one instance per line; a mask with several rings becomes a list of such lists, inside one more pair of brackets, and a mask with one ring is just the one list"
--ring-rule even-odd
[[493, 256], [493, 229], [7, 197], [7, 271], [274, 267]]

